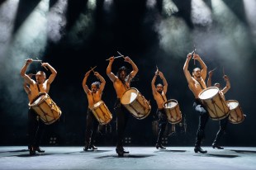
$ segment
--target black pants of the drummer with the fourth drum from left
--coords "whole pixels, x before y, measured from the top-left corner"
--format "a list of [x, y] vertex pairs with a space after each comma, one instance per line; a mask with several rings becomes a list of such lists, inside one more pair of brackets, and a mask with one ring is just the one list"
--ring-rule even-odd
[[157, 139], [156, 143], [161, 144], [162, 138], [164, 135], [164, 130], [166, 128], [168, 120], [167, 120], [167, 116], [166, 116], [164, 109], [158, 109], [156, 111], [156, 114], [158, 116], [158, 121], [159, 121], [159, 135], [158, 135], [158, 139]]

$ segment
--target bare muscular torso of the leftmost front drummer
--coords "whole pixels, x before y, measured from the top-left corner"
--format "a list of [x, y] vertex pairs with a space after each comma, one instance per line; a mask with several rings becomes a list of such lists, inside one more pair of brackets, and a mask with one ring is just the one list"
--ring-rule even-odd
[[[37, 87], [37, 83], [33, 80], [33, 83], [30, 84], [31, 93], [28, 96], [30, 103], [38, 96], [39, 92], [49, 92], [50, 84], [46, 80], [44, 83], [38, 84], [39, 88]], [[32, 103], [31, 103], [32, 104]]]

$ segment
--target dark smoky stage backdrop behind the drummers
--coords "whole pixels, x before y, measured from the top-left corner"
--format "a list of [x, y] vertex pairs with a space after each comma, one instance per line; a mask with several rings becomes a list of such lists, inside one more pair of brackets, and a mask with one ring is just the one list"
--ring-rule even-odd
[[[168, 137], [168, 144], [193, 145], [198, 125], [198, 116], [192, 109], [193, 95], [187, 87], [183, 74], [183, 64], [187, 53], [196, 46], [197, 54], [206, 63], [208, 70], [216, 68], [213, 83], [225, 86], [223, 72], [230, 77], [231, 89], [226, 93], [226, 100], [237, 100], [242, 107], [246, 119], [234, 125], [228, 124], [226, 135], [221, 144], [229, 146], [255, 146], [254, 130], [254, 95], [255, 95], [255, 21], [250, 21], [243, 1], [223, 0], [221, 6], [210, 0], [201, 1], [211, 12], [210, 20], [200, 7], [194, 7], [195, 1], [173, 0], [175, 9], [168, 13], [164, 0], [97, 0], [90, 7], [91, 1], [69, 0], [64, 12], [58, 12], [59, 1], [50, 0], [49, 10], [55, 16], [48, 16], [48, 29], [40, 32], [28, 42], [35, 30], [22, 33], [22, 28], [31, 13], [40, 4], [39, 0], [20, 0], [17, 13], [10, 18], [7, 2], [0, 2], [2, 33], [1, 78], [0, 78], [0, 130], [1, 145], [26, 144], [27, 97], [22, 89], [23, 79], [19, 72], [24, 59], [39, 57], [51, 64], [58, 72], [50, 87], [50, 97], [62, 110], [60, 120], [48, 125], [42, 144], [50, 144], [51, 137], [56, 138], [58, 145], [83, 145], [88, 101], [83, 92], [82, 81], [90, 67], [97, 66], [95, 71], [101, 73], [107, 84], [102, 100], [106, 103], [114, 118], [107, 126], [102, 126], [97, 137], [97, 145], [116, 144], [116, 117], [113, 106], [116, 92], [106, 68], [108, 59], [117, 56], [116, 51], [130, 56], [139, 68], [131, 87], [136, 87], [152, 106], [152, 111], [144, 120], [130, 116], [126, 137], [130, 137], [131, 145], [154, 145], [156, 133], [153, 114], [156, 104], [152, 96], [150, 83], [156, 65], [164, 73], [168, 81], [168, 99], [176, 99], [183, 117], [186, 118], [187, 129], [176, 126], [176, 134]], [[154, 6], [148, 6], [154, 2]], [[248, 3], [248, 2], [247, 2]], [[255, 4], [252, 5], [255, 11]], [[192, 15], [192, 10], [198, 15]], [[222, 12], [222, 13], [221, 13]], [[255, 15], [255, 13], [253, 13]], [[253, 15], [252, 14], [252, 15]], [[8, 17], [9, 16], [9, 17]], [[60, 20], [54, 17], [60, 16]], [[40, 21], [39, 21], [40, 22]], [[57, 23], [56, 25], [55, 22]], [[12, 29], [10, 28], [12, 26]], [[52, 26], [52, 27], [49, 27]], [[58, 31], [55, 36], [55, 28]], [[6, 33], [6, 32], [8, 33]], [[45, 34], [45, 44], [40, 43]], [[9, 35], [9, 36], [7, 36]], [[22, 35], [22, 36], [21, 36]], [[21, 39], [20, 37], [26, 37]], [[39, 49], [39, 50], [38, 50]], [[116, 59], [112, 71], [126, 65], [123, 59]], [[189, 69], [199, 67], [198, 63], [190, 63]], [[39, 63], [33, 63], [27, 73], [44, 70]], [[45, 71], [45, 70], [44, 70]], [[47, 76], [50, 72], [45, 71]], [[90, 75], [88, 86], [97, 81]], [[157, 79], [157, 83], [161, 83]], [[184, 121], [184, 119], [183, 119]], [[183, 122], [184, 123], [184, 122]], [[205, 145], [211, 145], [218, 130], [218, 121], [209, 120], [206, 126]], [[170, 125], [166, 135], [170, 133]], [[128, 143], [129, 144], [129, 143]]]

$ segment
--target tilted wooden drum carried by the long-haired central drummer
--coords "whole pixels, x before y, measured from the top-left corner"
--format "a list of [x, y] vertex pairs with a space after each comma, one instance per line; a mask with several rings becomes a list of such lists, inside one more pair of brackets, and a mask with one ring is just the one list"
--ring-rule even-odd
[[121, 104], [126, 107], [132, 116], [139, 120], [145, 119], [151, 111], [149, 102], [135, 87], [131, 87], [124, 92], [121, 98]]

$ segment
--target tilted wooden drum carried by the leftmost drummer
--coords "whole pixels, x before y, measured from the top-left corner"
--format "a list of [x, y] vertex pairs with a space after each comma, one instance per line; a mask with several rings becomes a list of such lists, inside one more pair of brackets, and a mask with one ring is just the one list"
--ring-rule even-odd
[[36, 111], [36, 114], [45, 125], [50, 125], [59, 120], [62, 113], [59, 106], [56, 105], [46, 92], [40, 93], [29, 106]]

